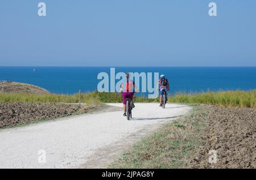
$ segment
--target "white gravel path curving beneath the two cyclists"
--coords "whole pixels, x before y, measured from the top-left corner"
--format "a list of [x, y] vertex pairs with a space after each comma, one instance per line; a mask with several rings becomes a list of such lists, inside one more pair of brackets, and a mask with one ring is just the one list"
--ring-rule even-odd
[[104, 168], [129, 145], [191, 109], [178, 104], [166, 109], [154, 103], [135, 106], [131, 121], [120, 109], [0, 130], [0, 168]]

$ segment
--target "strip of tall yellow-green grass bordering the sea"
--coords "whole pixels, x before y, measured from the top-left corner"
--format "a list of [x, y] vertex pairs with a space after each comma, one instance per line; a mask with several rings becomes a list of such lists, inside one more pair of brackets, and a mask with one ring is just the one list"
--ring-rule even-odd
[[[81, 93], [81, 102], [86, 104], [122, 102], [119, 93], [89, 92]], [[158, 102], [158, 98], [150, 99], [135, 96], [135, 102]], [[78, 103], [79, 94], [59, 95], [53, 93], [0, 93], [0, 102], [65, 102]], [[168, 102], [186, 104], [207, 104], [229, 108], [256, 108], [256, 90], [253, 91], [220, 91], [203, 93], [177, 93], [168, 97]]]

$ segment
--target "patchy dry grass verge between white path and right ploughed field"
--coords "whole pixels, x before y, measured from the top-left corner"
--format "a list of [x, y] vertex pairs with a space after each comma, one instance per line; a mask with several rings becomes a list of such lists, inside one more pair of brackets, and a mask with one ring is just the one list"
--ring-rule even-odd
[[204, 113], [196, 106], [191, 115], [168, 123], [135, 144], [110, 168], [183, 168], [189, 154], [200, 145], [197, 137], [206, 127]]

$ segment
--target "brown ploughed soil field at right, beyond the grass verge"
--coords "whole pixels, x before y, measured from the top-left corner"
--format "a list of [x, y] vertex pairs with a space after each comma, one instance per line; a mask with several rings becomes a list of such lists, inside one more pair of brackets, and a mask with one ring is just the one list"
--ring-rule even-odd
[[[189, 168], [256, 168], [256, 109], [204, 106], [209, 127], [201, 145], [188, 162]], [[210, 149], [217, 163], [210, 164]]]

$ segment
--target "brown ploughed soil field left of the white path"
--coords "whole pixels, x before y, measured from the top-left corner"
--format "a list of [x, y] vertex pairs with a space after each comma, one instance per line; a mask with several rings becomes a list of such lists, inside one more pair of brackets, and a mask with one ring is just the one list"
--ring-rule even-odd
[[61, 103], [0, 102], [0, 128], [86, 113], [99, 107]]

